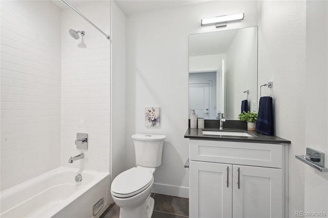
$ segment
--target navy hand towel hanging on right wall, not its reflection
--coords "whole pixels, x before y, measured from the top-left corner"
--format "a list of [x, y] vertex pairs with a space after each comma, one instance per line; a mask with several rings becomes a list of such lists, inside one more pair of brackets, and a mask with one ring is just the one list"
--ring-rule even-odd
[[255, 130], [264, 135], [273, 135], [272, 98], [269, 96], [260, 98]]

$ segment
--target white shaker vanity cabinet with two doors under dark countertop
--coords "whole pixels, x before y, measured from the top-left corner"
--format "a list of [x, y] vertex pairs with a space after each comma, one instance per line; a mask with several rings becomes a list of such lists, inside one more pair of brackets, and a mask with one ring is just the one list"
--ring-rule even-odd
[[284, 217], [285, 146], [190, 140], [190, 217]]

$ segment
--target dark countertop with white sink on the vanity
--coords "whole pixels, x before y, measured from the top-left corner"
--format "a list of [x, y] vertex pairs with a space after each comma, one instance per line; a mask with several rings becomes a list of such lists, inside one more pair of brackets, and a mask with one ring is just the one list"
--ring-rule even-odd
[[[205, 130], [218, 130], [217, 128], [204, 128]], [[243, 129], [223, 128], [223, 131], [234, 132], [241, 131], [247, 132], [255, 137], [243, 137], [243, 136], [216, 136], [216, 135], [203, 135], [202, 129], [199, 128], [188, 128], [185, 134], [185, 138], [198, 139], [198, 140], [214, 140], [214, 141], [232, 141], [232, 142], [259, 142], [259, 143], [286, 143], [290, 144], [291, 141], [277, 137], [267, 136], [256, 131], [248, 131]]]

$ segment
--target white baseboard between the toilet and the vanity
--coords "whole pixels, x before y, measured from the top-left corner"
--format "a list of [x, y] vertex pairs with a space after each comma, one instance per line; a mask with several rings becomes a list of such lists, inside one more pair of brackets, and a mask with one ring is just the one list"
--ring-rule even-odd
[[152, 187], [152, 192], [189, 199], [189, 188], [188, 187], [180, 187], [180, 186], [154, 183], [153, 187]]

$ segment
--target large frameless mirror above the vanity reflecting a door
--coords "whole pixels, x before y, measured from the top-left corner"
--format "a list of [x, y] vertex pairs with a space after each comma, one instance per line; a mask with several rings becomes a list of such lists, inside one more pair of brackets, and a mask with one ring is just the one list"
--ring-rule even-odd
[[242, 109], [257, 112], [257, 27], [189, 35], [189, 115], [236, 120]]

